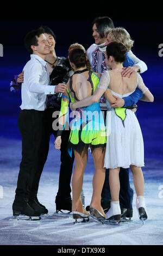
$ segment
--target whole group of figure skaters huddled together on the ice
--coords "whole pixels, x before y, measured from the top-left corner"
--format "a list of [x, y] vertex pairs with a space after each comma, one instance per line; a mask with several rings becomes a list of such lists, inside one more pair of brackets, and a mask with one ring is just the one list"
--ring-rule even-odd
[[[18, 117], [22, 161], [12, 204], [16, 217], [48, 212], [37, 191], [53, 133], [55, 148], [61, 151], [57, 212], [68, 210], [76, 221], [89, 216], [103, 223], [130, 220], [130, 168], [139, 218], [147, 219], [143, 138], [136, 118], [137, 101], [154, 100], [140, 75], [147, 65], [131, 52], [134, 41], [126, 29], [115, 28], [109, 17], [97, 17], [92, 32], [95, 44], [87, 51], [72, 44], [67, 58], [57, 57], [56, 38], [48, 27], [30, 31], [24, 38], [31, 59], [11, 83], [12, 89], [22, 90]], [[69, 129], [65, 129], [67, 121]], [[85, 209], [83, 176], [89, 149], [95, 173], [92, 199]]]

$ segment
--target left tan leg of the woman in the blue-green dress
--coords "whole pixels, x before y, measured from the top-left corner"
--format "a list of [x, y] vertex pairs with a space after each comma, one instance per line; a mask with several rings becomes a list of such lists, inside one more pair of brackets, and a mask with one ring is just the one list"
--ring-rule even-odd
[[74, 150], [74, 156], [76, 162], [72, 176], [72, 211], [83, 212], [80, 195], [83, 186], [84, 170], [87, 163], [87, 150], [84, 150], [81, 156]]

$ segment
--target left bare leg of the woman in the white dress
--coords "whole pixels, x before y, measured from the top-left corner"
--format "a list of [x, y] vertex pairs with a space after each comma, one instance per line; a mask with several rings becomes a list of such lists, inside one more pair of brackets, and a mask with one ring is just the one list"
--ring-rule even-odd
[[119, 201], [120, 194], [120, 179], [119, 179], [120, 168], [109, 169], [109, 185], [112, 201]]

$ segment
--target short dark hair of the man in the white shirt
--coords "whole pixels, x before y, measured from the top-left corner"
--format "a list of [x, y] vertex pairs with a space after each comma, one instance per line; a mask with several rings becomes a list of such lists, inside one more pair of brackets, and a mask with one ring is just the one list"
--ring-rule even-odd
[[28, 34], [24, 37], [24, 45], [25, 45], [27, 51], [30, 52], [30, 54], [33, 53], [33, 50], [30, 46], [38, 45], [38, 40], [37, 40], [36, 36], [39, 38], [39, 36], [42, 33], [43, 33], [43, 29], [38, 28], [38, 29], [28, 32]]

